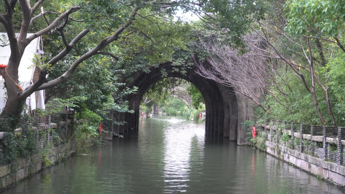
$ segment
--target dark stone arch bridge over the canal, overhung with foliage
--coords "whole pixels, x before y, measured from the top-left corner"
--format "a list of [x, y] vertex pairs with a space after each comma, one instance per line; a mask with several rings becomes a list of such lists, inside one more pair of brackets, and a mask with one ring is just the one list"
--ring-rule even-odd
[[123, 134], [128, 130], [137, 130], [139, 123], [140, 101], [150, 85], [162, 79], [161, 69], [164, 68], [167, 77], [185, 79], [194, 84], [201, 92], [206, 106], [205, 128], [206, 133], [214, 133], [238, 145], [247, 145], [246, 130], [242, 122], [254, 117], [254, 104], [247, 97], [237, 93], [234, 88], [226, 87], [212, 80], [205, 79], [195, 72], [195, 67], [182, 75], [174, 71], [171, 63], [161, 64], [159, 68], [151, 68], [150, 73], [137, 72], [134, 81], [127, 83], [126, 87], [138, 87], [136, 94], [128, 95], [125, 100], [134, 113], [113, 112], [117, 121], [124, 121], [123, 125], [113, 125], [113, 132]]

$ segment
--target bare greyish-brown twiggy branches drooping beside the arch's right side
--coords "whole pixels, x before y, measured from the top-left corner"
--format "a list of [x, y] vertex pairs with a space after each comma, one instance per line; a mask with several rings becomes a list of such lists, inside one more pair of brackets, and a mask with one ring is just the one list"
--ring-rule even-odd
[[[267, 109], [260, 100], [265, 93], [269, 93], [283, 107], [289, 109], [274, 93], [286, 95], [279, 89], [282, 84], [282, 76], [277, 72], [275, 60], [267, 60], [266, 53], [257, 49], [266, 45], [255, 34], [249, 34], [244, 40], [255, 46], [250, 46], [248, 52], [239, 55], [239, 50], [228, 45], [222, 45], [218, 37], [210, 37], [208, 40], [201, 40], [202, 48], [206, 50], [209, 57], [207, 61], [210, 67], [198, 62], [196, 59], [197, 73], [207, 79], [214, 80], [222, 85], [234, 87], [237, 92], [250, 98], [264, 111]], [[279, 78], [279, 79], [277, 79]]]

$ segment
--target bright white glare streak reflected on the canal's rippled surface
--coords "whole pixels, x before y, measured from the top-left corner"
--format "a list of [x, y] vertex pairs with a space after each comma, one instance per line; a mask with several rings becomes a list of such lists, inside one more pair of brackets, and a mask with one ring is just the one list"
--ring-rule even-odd
[[[195, 164], [202, 164], [204, 157], [205, 130], [182, 119], [166, 119], [164, 130], [164, 193], [185, 192]], [[185, 141], [181, 142], [180, 138]]]

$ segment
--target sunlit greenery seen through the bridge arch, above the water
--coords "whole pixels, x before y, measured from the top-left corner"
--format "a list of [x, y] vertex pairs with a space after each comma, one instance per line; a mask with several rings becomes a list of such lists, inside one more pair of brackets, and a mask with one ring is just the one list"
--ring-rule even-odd
[[192, 83], [176, 77], [158, 80], [141, 97], [140, 112], [147, 116], [151, 113], [199, 119], [201, 111], [205, 112], [205, 104], [200, 91]]

